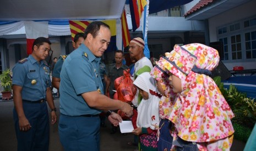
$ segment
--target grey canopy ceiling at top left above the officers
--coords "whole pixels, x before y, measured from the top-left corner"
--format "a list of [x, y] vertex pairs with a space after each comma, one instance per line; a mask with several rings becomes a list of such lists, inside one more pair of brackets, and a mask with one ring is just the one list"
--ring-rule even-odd
[[1, 0], [0, 21], [119, 19], [126, 0]]

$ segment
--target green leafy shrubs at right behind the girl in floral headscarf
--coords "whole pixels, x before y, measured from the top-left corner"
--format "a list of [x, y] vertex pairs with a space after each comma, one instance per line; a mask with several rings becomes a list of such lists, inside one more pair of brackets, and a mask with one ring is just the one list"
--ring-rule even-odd
[[229, 89], [224, 88], [224, 83], [221, 82], [219, 76], [214, 78], [214, 82], [235, 114], [235, 118], [232, 119], [235, 138], [246, 142], [256, 122], [256, 102], [254, 102], [254, 98], [249, 98], [246, 94], [238, 92], [232, 84]]

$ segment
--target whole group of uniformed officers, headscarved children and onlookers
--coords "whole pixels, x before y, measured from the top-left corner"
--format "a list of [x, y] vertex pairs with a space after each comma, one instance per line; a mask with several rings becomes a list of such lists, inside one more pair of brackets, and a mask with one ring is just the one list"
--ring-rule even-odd
[[[74, 38], [74, 51], [61, 55], [50, 79], [43, 62], [51, 50], [47, 38], [37, 38], [32, 54], [13, 68], [13, 117], [18, 150], [48, 150], [49, 120], [57, 121], [51, 83], [60, 95], [58, 132], [64, 150], [100, 150], [100, 126], [105, 118], [118, 126], [122, 111], [132, 120], [134, 140], [141, 150], [230, 150], [234, 114], [210, 78], [218, 51], [204, 44], [175, 45], [159, 61], [144, 55], [144, 40], [129, 43], [133, 64], [101, 62], [110, 44], [110, 27], [94, 21]], [[102, 64], [103, 63], [103, 64]], [[129, 69], [137, 93], [130, 102], [114, 100], [115, 79]], [[105, 86], [104, 86], [105, 85]]]

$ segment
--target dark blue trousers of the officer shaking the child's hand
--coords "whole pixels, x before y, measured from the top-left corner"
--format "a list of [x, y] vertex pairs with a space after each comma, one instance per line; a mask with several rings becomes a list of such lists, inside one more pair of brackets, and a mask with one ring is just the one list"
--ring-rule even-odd
[[59, 139], [65, 151], [100, 151], [100, 118], [59, 117]]

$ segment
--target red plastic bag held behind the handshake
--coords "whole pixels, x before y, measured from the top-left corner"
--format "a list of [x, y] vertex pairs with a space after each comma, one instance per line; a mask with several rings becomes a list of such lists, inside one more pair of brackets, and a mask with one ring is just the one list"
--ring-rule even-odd
[[123, 71], [123, 76], [115, 80], [115, 88], [117, 91], [118, 100], [123, 102], [131, 102], [137, 92], [133, 80], [130, 79], [130, 69]]

